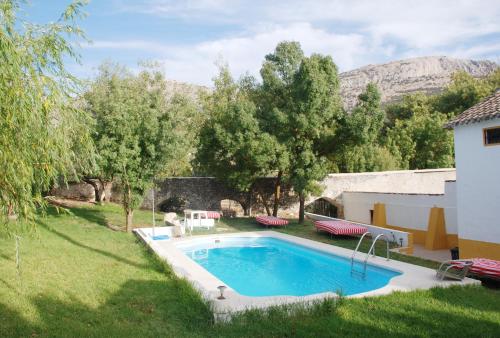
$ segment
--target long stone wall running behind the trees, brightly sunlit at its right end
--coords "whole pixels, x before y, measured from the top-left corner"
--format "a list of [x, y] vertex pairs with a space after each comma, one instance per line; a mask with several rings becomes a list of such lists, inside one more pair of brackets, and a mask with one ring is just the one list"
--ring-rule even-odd
[[[447, 180], [454, 180], [455, 169], [433, 170], [400, 170], [373, 173], [330, 174], [320, 184], [323, 187], [321, 194], [309, 196], [306, 204], [318, 198], [328, 200], [342, 212], [342, 193], [350, 192], [379, 192], [379, 193], [406, 193], [406, 194], [443, 194]], [[261, 178], [252, 194], [242, 194], [228, 188], [214, 177], [173, 177], [157, 182], [155, 193], [155, 207], [168, 198], [178, 197], [186, 201], [186, 208], [201, 210], [220, 210], [222, 200], [234, 200], [241, 204], [247, 213], [265, 213], [263, 200], [272, 209], [275, 178]], [[73, 188], [74, 187], [74, 188]], [[290, 187], [282, 188], [282, 203], [280, 215], [296, 217], [299, 205], [297, 196]], [[66, 198], [85, 199], [93, 198], [94, 191], [88, 184], [72, 185], [67, 190], [57, 190], [57, 194]], [[87, 196], [87, 197], [85, 197]], [[151, 191], [144, 198], [142, 208], [151, 209]], [[113, 190], [112, 201], [120, 202], [121, 194]]]

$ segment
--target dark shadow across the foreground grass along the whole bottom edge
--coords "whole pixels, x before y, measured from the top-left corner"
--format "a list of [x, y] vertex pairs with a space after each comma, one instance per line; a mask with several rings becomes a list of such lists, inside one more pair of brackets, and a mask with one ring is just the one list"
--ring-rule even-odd
[[[449, 294], [444, 290], [444, 295]], [[421, 297], [433, 301], [433, 294]], [[427, 307], [415, 295], [319, 303], [312, 308], [251, 310], [213, 324], [210, 307], [179, 279], [129, 280], [94, 307], [49, 295], [30, 299], [38, 317], [25, 320], [0, 301], [5, 336], [73, 337], [494, 337], [498, 322], [460, 311], [461, 304]], [[493, 302], [489, 301], [490, 306]], [[459, 307], [457, 307], [457, 305]]]

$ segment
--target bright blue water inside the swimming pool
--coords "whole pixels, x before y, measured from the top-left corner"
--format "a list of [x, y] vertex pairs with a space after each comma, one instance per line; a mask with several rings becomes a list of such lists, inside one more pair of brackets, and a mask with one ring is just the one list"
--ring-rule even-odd
[[401, 274], [368, 265], [365, 278], [351, 275], [347, 258], [273, 237], [194, 240], [178, 248], [236, 292], [253, 297], [352, 295], [381, 288]]

